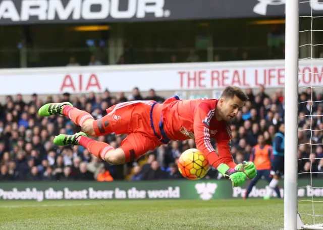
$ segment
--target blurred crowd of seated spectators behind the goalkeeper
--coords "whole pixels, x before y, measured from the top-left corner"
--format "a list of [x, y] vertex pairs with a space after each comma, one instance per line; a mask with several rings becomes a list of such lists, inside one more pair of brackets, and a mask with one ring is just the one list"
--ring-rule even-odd
[[[260, 87], [258, 94], [246, 89], [249, 101], [239, 111], [232, 122], [232, 154], [237, 163], [249, 160], [251, 149], [257, 144], [257, 136], [263, 134], [266, 143], [272, 145], [278, 126], [284, 122], [285, 102], [281, 90], [271, 95]], [[177, 159], [183, 151], [196, 148], [194, 140], [172, 141], [148, 153], [148, 162], [142, 167], [138, 162], [125, 165], [111, 165], [95, 158], [81, 146], [59, 147], [52, 143], [58, 133], [73, 134], [80, 131], [64, 116], [40, 117], [38, 109], [45, 103], [69, 101], [75, 107], [85, 110], [99, 119], [112, 105], [129, 100], [165, 99], [151, 89], [149, 97], [143, 98], [138, 88], [134, 88], [131, 97], [120, 93], [112, 97], [108, 90], [101, 95], [90, 93], [81, 97], [48, 96], [45, 101], [36, 94], [29, 102], [21, 95], [8, 96], [6, 103], [0, 106], [0, 181], [5, 180], [122, 180], [133, 168], [131, 180], [180, 179]], [[308, 88], [299, 95], [299, 148], [298, 170], [300, 177], [309, 177], [310, 173], [323, 172], [323, 100], [321, 94], [315, 94]], [[114, 133], [97, 137], [98, 141], [109, 143], [118, 148], [125, 135]], [[216, 143], [212, 142], [214, 148]], [[140, 159], [139, 159], [140, 160]], [[320, 176], [312, 173], [312, 177]], [[323, 174], [322, 174], [323, 175]], [[216, 169], [211, 168], [206, 177], [222, 178]]]

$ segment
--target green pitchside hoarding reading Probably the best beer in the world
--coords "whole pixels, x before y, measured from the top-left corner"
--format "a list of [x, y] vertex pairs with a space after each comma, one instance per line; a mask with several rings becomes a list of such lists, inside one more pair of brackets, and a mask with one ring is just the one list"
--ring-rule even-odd
[[[298, 181], [298, 197], [323, 197], [322, 180]], [[161, 180], [122, 182], [4, 182], [0, 187], [0, 200], [95, 200], [95, 199], [232, 199], [242, 198], [248, 183], [231, 187], [229, 180]], [[253, 187], [249, 197], [262, 198], [268, 183], [261, 180]], [[284, 181], [280, 181], [284, 197]], [[276, 196], [276, 194], [274, 194]]]

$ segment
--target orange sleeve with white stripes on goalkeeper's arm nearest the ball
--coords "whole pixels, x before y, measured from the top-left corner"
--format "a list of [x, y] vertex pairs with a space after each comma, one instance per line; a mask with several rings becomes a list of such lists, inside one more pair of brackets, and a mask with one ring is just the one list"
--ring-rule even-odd
[[194, 115], [194, 135], [196, 148], [201, 151], [207, 158], [207, 161], [214, 168], [218, 168], [221, 163], [224, 163], [214, 148], [210, 140], [210, 122], [214, 116], [215, 108], [206, 102], [201, 102]]

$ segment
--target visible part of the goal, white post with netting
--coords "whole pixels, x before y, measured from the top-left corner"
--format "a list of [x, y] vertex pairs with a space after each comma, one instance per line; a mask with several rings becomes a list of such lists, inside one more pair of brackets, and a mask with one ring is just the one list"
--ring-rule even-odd
[[323, 229], [322, 48], [323, 1], [286, 0], [285, 229]]

